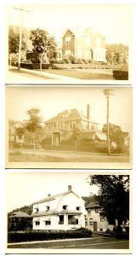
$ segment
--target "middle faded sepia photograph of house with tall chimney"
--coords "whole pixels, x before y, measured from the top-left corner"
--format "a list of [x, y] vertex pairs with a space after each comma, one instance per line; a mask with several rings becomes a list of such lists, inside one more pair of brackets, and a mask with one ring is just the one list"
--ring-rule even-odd
[[7, 168], [132, 168], [132, 88], [6, 87]]

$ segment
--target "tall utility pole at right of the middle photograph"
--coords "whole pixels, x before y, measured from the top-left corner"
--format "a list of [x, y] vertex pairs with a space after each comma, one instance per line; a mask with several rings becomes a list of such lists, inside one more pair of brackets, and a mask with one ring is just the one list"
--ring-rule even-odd
[[109, 132], [109, 103], [110, 103], [110, 96], [113, 96], [114, 94], [111, 93], [112, 89], [105, 89], [104, 94], [107, 98], [107, 113], [106, 113], [106, 119], [107, 119], [107, 154], [111, 154], [111, 143], [110, 143], [110, 132]]

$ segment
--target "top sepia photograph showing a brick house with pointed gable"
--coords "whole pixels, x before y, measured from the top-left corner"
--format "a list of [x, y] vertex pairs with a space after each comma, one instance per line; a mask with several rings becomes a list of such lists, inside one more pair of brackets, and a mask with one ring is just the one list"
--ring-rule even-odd
[[131, 4], [8, 4], [6, 24], [6, 84], [130, 84]]

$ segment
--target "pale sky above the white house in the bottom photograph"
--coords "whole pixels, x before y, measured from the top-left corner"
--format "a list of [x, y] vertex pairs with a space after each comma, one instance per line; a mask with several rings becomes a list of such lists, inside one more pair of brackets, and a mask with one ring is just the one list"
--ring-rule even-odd
[[[10, 212], [18, 207], [31, 205], [42, 200], [48, 194], [66, 192], [68, 185], [79, 196], [98, 193], [96, 185], [90, 186], [87, 178], [91, 172], [7, 172], [6, 173], [6, 209]], [[90, 194], [93, 193], [93, 194]]]

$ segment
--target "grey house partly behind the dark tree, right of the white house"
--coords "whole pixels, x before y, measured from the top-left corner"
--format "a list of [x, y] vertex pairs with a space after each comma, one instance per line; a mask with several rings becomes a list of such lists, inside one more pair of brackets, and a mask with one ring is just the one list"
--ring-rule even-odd
[[[96, 201], [94, 196], [82, 196], [82, 199], [86, 201], [86, 216], [85, 216], [85, 228], [97, 231], [106, 231], [109, 229], [109, 222], [102, 214], [102, 209], [99, 207], [99, 202]], [[113, 229], [113, 226], [111, 227]]]

